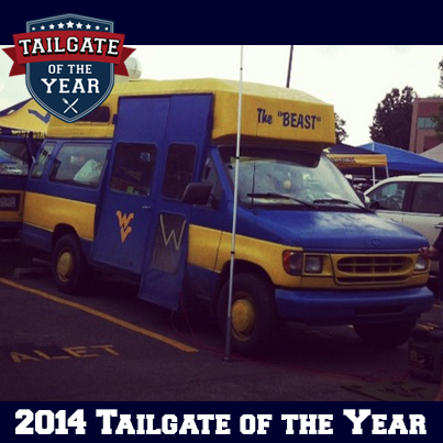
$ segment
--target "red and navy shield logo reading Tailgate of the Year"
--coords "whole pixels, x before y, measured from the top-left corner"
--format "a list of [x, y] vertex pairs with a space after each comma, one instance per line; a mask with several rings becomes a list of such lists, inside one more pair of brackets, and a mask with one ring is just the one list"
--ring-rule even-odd
[[[26, 33], [14, 35], [14, 48], [3, 49], [14, 60], [10, 75], [22, 74], [31, 96], [46, 111], [73, 123], [112, 91], [114, 74], [128, 76], [124, 35], [111, 21], [77, 14], [26, 22]], [[115, 73], [114, 73], [115, 68]]]

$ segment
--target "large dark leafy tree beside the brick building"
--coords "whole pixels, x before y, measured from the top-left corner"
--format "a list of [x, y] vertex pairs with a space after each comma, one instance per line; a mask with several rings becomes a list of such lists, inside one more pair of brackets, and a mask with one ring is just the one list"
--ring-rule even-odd
[[410, 86], [401, 92], [397, 88], [386, 95], [378, 103], [369, 126], [370, 139], [402, 149], [409, 148], [411, 133], [412, 104], [417, 93]]

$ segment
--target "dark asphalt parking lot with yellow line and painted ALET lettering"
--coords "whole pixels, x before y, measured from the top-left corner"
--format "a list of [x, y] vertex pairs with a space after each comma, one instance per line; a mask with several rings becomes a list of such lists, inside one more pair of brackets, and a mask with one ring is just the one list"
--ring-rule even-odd
[[[153, 307], [128, 284], [98, 278], [67, 296], [41, 264], [18, 273], [30, 263], [13, 245], [1, 257], [2, 401], [424, 401], [439, 388], [411, 376], [407, 344], [372, 350], [352, 328], [290, 325], [252, 361], [226, 355], [210, 320]], [[421, 323], [440, 321], [436, 301]]]

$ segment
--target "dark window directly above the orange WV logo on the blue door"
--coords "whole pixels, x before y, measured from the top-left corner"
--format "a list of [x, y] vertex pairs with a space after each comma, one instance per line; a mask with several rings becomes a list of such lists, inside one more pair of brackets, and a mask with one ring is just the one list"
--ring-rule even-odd
[[155, 145], [119, 143], [112, 168], [111, 190], [148, 196], [151, 193], [155, 158]]

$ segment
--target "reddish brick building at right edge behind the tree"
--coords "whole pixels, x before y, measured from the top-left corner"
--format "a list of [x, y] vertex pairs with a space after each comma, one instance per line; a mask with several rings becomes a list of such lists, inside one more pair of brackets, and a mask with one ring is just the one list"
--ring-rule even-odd
[[442, 106], [443, 98], [414, 100], [409, 151], [421, 154], [442, 143], [435, 134], [435, 123], [432, 121], [432, 117], [439, 114]]

